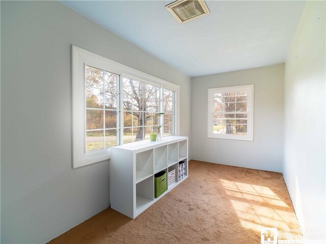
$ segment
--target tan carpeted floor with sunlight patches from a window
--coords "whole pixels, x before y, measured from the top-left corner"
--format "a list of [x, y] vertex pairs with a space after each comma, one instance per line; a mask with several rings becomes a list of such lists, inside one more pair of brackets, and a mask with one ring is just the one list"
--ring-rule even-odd
[[301, 239], [282, 174], [191, 161], [189, 177], [137, 219], [107, 208], [49, 243], [259, 244], [261, 227]]

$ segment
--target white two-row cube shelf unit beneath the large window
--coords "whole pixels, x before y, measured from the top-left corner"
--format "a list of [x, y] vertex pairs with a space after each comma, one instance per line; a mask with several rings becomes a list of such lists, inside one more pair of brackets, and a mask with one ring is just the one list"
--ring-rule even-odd
[[[186, 176], [179, 179], [178, 165], [186, 162]], [[176, 169], [176, 183], [154, 197], [154, 174]], [[138, 141], [111, 148], [111, 208], [132, 219], [188, 177], [188, 138], [167, 136], [160, 141]]]

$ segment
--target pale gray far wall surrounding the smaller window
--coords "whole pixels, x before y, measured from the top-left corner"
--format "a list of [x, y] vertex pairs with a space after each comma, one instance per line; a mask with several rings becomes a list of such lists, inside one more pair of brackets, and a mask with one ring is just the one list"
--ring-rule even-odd
[[[282, 171], [284, 65], [192, 78], [195, 160]], [[207, 89], [255, 84], [254, 141], [207, 138]]]

